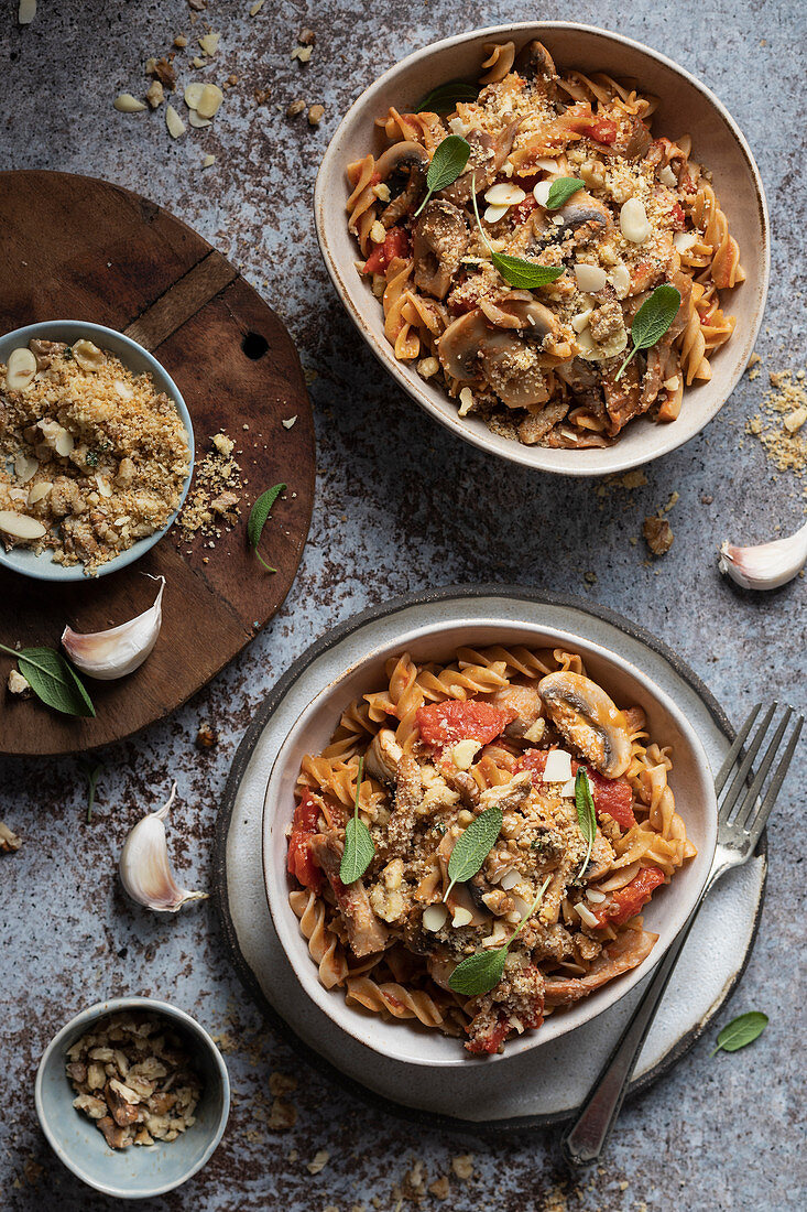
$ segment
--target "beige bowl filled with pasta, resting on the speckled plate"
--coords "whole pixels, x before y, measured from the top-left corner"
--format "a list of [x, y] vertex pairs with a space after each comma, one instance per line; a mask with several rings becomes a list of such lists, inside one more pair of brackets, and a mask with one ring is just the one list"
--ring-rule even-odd
[[490, 1063], [648, 972], [715, 836], [703, 747], [641, 669], [454, 619], [309, 704], [269, 778], [264, 871], [302, 989], [343, 1030], [414, 1064]]

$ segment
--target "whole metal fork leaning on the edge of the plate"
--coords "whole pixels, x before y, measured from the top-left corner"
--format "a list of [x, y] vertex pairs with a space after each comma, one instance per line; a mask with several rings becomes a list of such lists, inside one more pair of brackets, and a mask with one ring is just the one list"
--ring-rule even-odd
[[[656, 1011], [658, 1010], [659, 1002], [664, 995], [664, 990], [666, 989], [666, 984], [672, 974], [672, 970], [675, 968], [679, 956], [683, 950], [683, 944], [687, 941], [687, 936], [692, 928], [696, 916], [698, 915], [698, 910], [700, 909], [704, 897], [711, 888], [712, 884], [715, 884], [715, 881], [719, 880], [725, 871], [729, 870], [732, 867], [740, 867], [743, 863], [748, 862], [756, 848], [756, 844], [760, 840], [760, 835], [765, 829], [768, 817], [771, 816], [771, 810], [773, 808], [775, 799], [785, 779], [785, 774], [788, 773], [788, 768], [796, 750], [799, 736], [805, 722], [802, 715], [795, 716], [795, 727], [790, 736], [790, 741], [788, 742], [788, 745], [777, 765], [768, 789], [765, 794], [765, 799], [760, 800], [765, 781], [780, 750], [782, 739], [785, 734], [788, 725], [794, 718], [794, 709], [791, 707], [786, 707], [784, 715], [775, 728], [773, 739], [765, 750], [759, 767], [754, 768], [756, 755], [762, 747], [762, 742], [765, 741], [766, 733], [771, 727], [778, 705], [778, 703], [773, 703], [768, 708], [765, 714], [765, 719], [756, 728], [748, 749], [743, 754], [743, 745], [745, 744], [754, 722], [762, 709], [762, 704], [757, 703], [756, 707], [752, 708], [750, 715], [745, 720], [745, 724], [738, 732], [734, 743], [728, 750], [726, 761], [720, 768], [720, 773], [715, 779], [715, 791], [720, 805], [717, 813], [717, 847], [715, 850], [715, 858], [709, 871], [709, 877], [706, 879], [704, 890], [698, 897], [698, 902], [689, 917], [653, 973], [653, 977], [651, 978], [641, 1001], [636, 1006], [630, 1022], [620, 1035], [613, 1052], [600, 1070], [600, 1074], [582, 1104], [579, 1113], [577, 1114], [571, 1127], [566, 1130], [561, 1138], [563, 1156], [571, 1166], [577, 1167], [590, 1165], [597, 1160], [605, 1148], [608, 1134], [622, 1109], [622, 1103], [628, 1090], [628, 1084], [630, 1082], [630, 1076], [634, 1071], [634, 1065], [636, 1064], [639, 1053], [641, 1052], [647, 1033], [656, 1017]], [[731, 785], [728, 787], [728, 790], [726, 790], [726, 794], [722, 795], [733, 772], [734, 777]], [[751, 779], [751, 784], [748, 787], [748, 790], [740, 801], [740, 794], [745, 789], [749, 778]], [[737, 807], [738, 801], [739, 807]]]

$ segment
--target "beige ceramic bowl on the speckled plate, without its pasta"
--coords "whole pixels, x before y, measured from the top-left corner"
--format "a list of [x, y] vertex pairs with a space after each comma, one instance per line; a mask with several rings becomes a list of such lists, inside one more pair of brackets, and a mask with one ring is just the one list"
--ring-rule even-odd
[[[589, 675], [617, 703], [643, 709], [649, 736], [659, 745], [671, 747], [674, 766], [670, 787], [675, 795], [675, 810], [685, 821], [687, 836], [697, 847], [697, 854], [675, 871], [671, 881], [647, 905], [645, 928], [659, 937], [639, 966], [616, 976], [571, 1007], [555, 1010], [537, 1030], [513, 1035], [505, 1044], [503, 1057], [479, 1058], [465, 1051], [463, 1039], [446, 1036], [414, 1019], [383, 1018], [361, 1006], [348, 1005], [343, 988], [325, 988], [320, 982], [319, 964], [309, 954], [309, 942], [290, 904], [290, 892], [299, 885], [287, 874], [287, 852], [294, 811], [294, 785], [304, 755], [321, 753], [337, 727], [342, 711], [353, 699], [387, 684], [385, 662], [393, 656], [408, 652], [417, 663], [447, 663], [453, 659], [458, 647], [480, 648], [488, 645], [561, 647], [577, 652]], [[394, 644], [368, 652], [313, 699], [284, 741], [269, 777], [263, 817], [265, 890], [277, 937], [299, 982], [299, 1016], [304, 1018], [310, 1013], [307, 1006], [309, 1001], [347, 1035], [368, 1048], [414, 1065], [490, 1064], [556, 1040], [608, 1011], [662, 959], [693, 909], [706, 880], [715, 851], [716, 821], [712, 774], [698, 736], [668, 694], [641, 669], [614, 652], [556, 629], [515, 621], [503, 622], [486, 616], [475, 617], [470, 606], [464, 617], [457, 612], [450, 617], [442, 614], [434, 624], [406, 631]], [[314, 937], [311, 928], [308, 934], [313, 939], [311, 950], [321, 961], [321, 936], [319, 939]]]

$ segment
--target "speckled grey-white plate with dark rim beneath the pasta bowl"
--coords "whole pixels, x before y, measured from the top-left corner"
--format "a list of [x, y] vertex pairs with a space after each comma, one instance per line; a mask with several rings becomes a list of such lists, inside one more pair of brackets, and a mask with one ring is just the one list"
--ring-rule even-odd
[[[424, 1113], [452, 1128], [525, 1128], [567, 1117], [586, 1093], [641, 996], [643, 983], [577, 1030], [485, 1069], [452, 1068], [414, 1081], [411, 1067], [345, 1035], [303, 993], [275, 934], [261, 863], [264, 793], [277, 749], [303, 708], [368, 648], [462, 606], [469, 623], [500, 618], [562, 628], [611, 648], [670, 694], [698, 731], [714, 768], [733, 730], [694, 673], [643, 629], [574, 598], [526, 588], [453, 587], [373, 607], [317, 640], [258, 710], [233, 762], [216, 839], [216, 887], [224, 938], [245, 988], [269, 1022], [320, 1073], [402, 1115]], [[710, 893], [679, 961], [631, 1084], [645, 1090], [683, 1056], [720, 1011], [750, 953], [766, 880], [766, 854], [729, 873]], [[511, 1080], [506, 1080], [506, 1077]]]

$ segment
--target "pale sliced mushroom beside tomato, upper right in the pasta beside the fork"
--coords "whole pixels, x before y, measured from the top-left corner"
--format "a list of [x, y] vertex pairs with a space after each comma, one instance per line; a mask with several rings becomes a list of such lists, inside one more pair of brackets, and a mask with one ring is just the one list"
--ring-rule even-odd
[[559, 731], [606, 778], [619, 778], [630, 766], [628, 720], [601, 686], [582, 674], [542, 678], [538, 692]]

